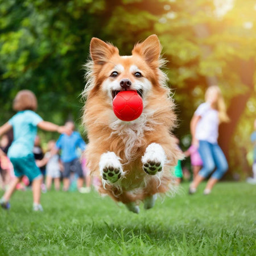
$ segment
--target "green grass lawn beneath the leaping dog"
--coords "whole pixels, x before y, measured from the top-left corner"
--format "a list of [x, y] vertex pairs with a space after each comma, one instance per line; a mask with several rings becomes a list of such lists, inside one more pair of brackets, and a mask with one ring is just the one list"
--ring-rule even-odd
[[[47, 192], [32, 212], [31, 191], [0, 209], [1, 255], [256, 255], [256, 186], [219, 183], [211, 195], [173, 198], [134, 214], [96, 192]], [[2, 196], [2, 193], [0, 193]]]

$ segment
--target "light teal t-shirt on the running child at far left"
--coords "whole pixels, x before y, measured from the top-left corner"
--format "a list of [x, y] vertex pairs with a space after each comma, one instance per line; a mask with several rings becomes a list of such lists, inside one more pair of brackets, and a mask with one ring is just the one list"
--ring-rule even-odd
[[8, 150], [9, 158], [21, 158], [33, 154], [38, 123], [43, 119], [32, 110], [16, 113], [9, 123], [13, 126], [14, 141]]

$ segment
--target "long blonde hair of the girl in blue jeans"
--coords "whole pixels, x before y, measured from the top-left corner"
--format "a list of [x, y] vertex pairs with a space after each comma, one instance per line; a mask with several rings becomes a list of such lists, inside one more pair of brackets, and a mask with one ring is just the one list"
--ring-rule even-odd
[[216, 92], [217, 102], [213, 104], [212, 107], [218, 111], [218, 118], [220, 123], [229, 122], [228, 114], [226, 113], [226, 105], [224, 102], [224, 98], [222, 96], [221, 90], [217, 85], [209, 86], [205, 92], [205, 101], [207, 101], [208, 97], [211, 93]]

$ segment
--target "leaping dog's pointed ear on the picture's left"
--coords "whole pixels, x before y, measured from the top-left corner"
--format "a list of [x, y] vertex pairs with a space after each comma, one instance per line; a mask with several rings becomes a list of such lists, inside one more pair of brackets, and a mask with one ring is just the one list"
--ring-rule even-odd
[[118, 49], [112, 44], [105, 43], [98, 38], [92, 38], [90, 41], [90, 56], [95, 64], [104, 65], [115, 53], [118, 53]]

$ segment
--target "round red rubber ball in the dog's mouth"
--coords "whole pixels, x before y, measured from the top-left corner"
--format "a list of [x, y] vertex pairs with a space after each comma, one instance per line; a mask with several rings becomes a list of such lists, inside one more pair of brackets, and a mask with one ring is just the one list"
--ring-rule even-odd
[[143, 110], [141, 96], [134, 90], [123, 90], [113, 100], [113, 111], [117, 118], [122, 121], [133, 121], [137, 119]]

